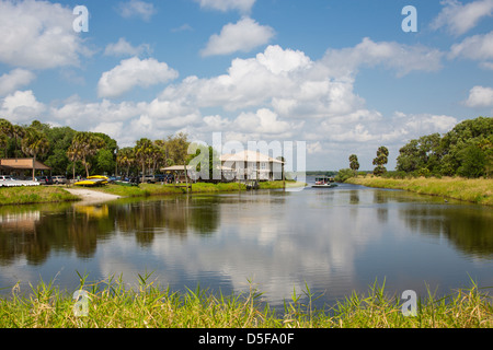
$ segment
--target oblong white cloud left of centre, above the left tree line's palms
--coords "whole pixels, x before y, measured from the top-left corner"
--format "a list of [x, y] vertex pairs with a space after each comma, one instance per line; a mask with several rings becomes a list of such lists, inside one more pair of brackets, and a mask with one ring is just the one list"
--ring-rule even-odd
[[177, 72], [153, 58], [133, 57], [104, 72], [98, 83], [100, 97], [117, 97], [135, 86], [148, 88], [176, 79]]

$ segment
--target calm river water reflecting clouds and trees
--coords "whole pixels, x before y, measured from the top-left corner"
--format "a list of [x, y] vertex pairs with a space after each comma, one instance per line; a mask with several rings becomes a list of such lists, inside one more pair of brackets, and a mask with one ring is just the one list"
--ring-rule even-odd
[[0, 208], [0, 293], [39, 279], [72, 292], [138, 275], [172, 291], [245, 292], [318, 306], [375, 281], [400, 295], [493, 287], [493, 210], [400, 190], [257, 190]]

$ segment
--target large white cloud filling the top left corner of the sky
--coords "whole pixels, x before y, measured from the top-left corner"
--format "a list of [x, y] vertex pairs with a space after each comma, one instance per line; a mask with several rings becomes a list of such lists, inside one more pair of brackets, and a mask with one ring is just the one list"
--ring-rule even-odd
[[0, 62], [48, 69], [90, 55], [72, 28], [72, 11], [47, 1], [0, 1]]

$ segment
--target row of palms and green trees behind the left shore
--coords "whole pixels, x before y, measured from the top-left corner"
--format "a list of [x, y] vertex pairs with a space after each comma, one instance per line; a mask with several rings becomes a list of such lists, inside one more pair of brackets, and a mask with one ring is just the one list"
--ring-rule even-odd
[[162, 166], [184, 164], [188, 145], [187, 135], [183, 132], [161, 140], [141, 138], [134, 147], [119, 148], [103, 132], [53, 127], [38, 120], [14, 125], [0, 118], [2, 158], [34, 158], [51, 167], [54, 175], [72, 178], [96, 174], [154, 174]]

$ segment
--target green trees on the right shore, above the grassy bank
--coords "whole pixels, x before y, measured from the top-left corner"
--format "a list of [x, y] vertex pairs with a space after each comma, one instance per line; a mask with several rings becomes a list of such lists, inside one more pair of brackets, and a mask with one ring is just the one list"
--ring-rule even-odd
[[[399, 150], [395, 171], [388, 172], [389, 150], [380, 147], [372, 164], [374, 175], [462, 176], [469, 178], [493, 176], [493, 118], [478, 117], [456, 125], [445, 135], [432, 133], [413, 139]], [[349, 155], [349, 167], [339, 172], [336, 180], [356, 176], [359, 162]]]

